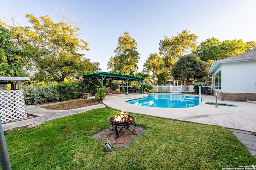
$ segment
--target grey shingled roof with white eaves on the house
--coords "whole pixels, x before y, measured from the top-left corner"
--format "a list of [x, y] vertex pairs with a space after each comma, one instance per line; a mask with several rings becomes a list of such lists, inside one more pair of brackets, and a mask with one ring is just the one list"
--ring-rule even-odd
[[232, 63], [232, 62], [252, 61], [252, 60], [256, 60], [256, 50], [214, 61], [210, 67], [210, 70], [208, 71], [208, 74], [213, 74], [216, 71], [216, 69], [220, 67], [222, 63]]

